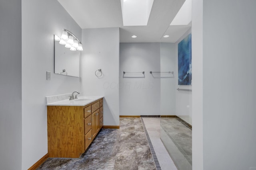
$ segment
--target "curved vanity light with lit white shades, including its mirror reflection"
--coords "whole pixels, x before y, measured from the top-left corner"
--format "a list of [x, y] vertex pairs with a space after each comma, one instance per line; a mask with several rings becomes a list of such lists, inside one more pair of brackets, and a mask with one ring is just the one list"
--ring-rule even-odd
[[81, 41], [72, 32], [67, 29], [63, 29], [61, 37], [55, 35], [55, 41], [60, 41], [59, 43], [65, 45], [66, 48], [70, 48], [71, 51], [83, 51]]

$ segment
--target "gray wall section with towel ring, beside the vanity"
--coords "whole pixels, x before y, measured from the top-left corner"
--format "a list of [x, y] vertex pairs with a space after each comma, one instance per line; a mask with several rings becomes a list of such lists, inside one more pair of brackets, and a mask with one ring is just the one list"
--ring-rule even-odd
[[104, 96], [104, 125], [119, 125], [119, 28], [82, 29], [82, 42], [83, 95]]

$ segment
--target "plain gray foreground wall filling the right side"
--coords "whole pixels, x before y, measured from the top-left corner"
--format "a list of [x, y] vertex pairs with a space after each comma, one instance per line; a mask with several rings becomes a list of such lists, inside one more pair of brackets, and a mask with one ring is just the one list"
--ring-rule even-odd
[[254, 0], [193, 1], [192, 71], [202, 76], [193, 79], [192, 93], [196, 170], [256, 167], [255, 6]]

